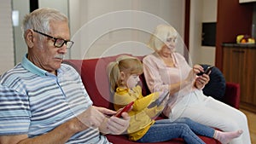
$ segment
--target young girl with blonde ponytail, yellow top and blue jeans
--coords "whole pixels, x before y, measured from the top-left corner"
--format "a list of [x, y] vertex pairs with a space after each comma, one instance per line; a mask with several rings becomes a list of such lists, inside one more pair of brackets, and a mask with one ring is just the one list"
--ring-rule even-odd
[[234, 132], [214, 130], [206, 125], [195, 123], [189, 118], [177, 118], [174, 122], [170, 119], [155, 121], [153, 118], [164, 106], [148, 108], [152, 101], [159, 98], [159, 93], [142, 95], [142, 88], [137, 85], [140, 81], [139, 75], [143, 73], [141, 60], [121, 55], [116, 61], [109, 63], [107, 71], [115, 110], [134, 101], [131, 111], [128, 112], [131, 121], [127, 133], [131, 141], [160, 142], [180, 137], [188, 144], [202, 144], [205, 142], [197, 135], [204, 135], [226, 144], [242, 133], [241, 130]]

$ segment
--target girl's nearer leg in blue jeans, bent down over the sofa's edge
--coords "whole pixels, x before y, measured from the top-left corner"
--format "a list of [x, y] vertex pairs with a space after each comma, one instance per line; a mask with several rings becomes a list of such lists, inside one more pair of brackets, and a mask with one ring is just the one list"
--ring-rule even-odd
[[148, 132], [138, 142], [169, 141], [174, 138], [183, 138], [188, 144], [205, 144], [187, 124], [153, 124]]

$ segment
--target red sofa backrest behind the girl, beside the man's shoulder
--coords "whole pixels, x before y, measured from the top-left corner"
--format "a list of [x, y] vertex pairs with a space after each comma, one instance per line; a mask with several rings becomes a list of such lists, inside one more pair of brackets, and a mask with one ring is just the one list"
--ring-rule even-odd
[[[109, 91], [107, 66], [111, 61], [116, 60], [119, 55], [108, 56], [88, 60], [64, 60], [63, 63], [73, 66], [80, 74], [84, 87], [90, 95], [94, 106], [113, 109], [112, 96]], [[143, 56], [137, 56], [140, 60]], [[141, 75], [143, 95], [148, 95], [149, 90], [143, 75]]]

